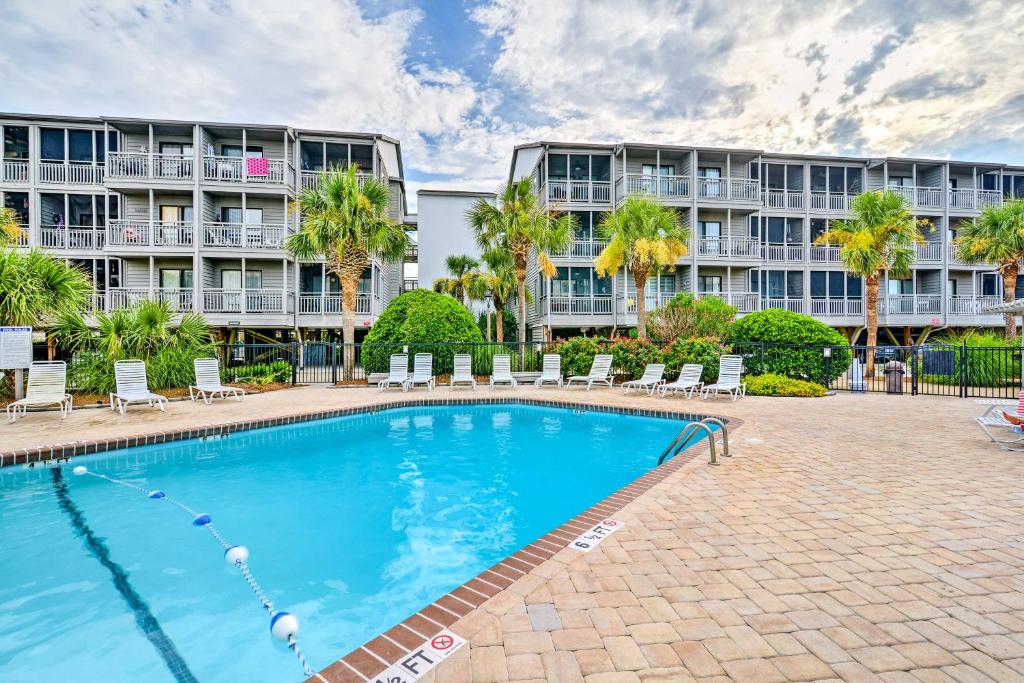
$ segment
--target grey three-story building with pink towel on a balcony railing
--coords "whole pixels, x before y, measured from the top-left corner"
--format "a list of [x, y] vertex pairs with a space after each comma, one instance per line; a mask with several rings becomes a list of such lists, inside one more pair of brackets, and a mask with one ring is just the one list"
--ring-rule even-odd
[[[140, 299], [202, 312], [225, 338], [281, 341], [341, 327], [337, 278], [296, 262], [294, 197], [325, 168], [356, 165], [387, 183], [404, 218], [399, 143], [376, 133], [288, 126], [0, 114], [0, 200], [20, 245], [89, 273], [93, 310]], [[374, 261], [356, 325], [400, 293], [401, 263]]]

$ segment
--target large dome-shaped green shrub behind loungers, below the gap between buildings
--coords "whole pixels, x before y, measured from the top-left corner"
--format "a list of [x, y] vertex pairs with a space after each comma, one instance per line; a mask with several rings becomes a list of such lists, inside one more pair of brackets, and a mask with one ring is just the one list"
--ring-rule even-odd
[[410, 368], [416, 353], [433, 353], [435, 374], [451, 368], [456, 353], [469, 353], [483, 342], [480, 328], [454, 298], [429, 290], [413, 290], [392, 299], [362, 340], [367, 373], [386, 373], [392, 353], [409, 346]]

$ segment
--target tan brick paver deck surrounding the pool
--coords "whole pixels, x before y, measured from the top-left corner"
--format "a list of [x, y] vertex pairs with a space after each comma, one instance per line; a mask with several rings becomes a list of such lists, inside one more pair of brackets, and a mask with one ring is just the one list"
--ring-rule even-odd
[[[30, 414], [0, 451], [377, 400], [306, 388], [54, 429]], [[733, 458], [686, 465], [597, 549], [560, 551], [456, 622], [469, 644], [421, 681], [1024, 681], [1024, 455], [990, 445], [972, 402], [690, 402], [743, 420]]]

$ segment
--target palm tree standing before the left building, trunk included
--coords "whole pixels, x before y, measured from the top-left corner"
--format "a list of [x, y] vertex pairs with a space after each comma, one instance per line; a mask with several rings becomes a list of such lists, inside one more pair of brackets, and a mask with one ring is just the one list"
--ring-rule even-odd
[[362, 271], [372, 258], [400, 261], [409, 246], [401, 225], [388, 217], [388, 187], [376, 178], [360, 181], [357, 167], [329, 169], [296, 198], [302, 228], [286, 249], [297, 259], [324, 258], [341, 283], [345, 378], [355, 368], [355, 303]]

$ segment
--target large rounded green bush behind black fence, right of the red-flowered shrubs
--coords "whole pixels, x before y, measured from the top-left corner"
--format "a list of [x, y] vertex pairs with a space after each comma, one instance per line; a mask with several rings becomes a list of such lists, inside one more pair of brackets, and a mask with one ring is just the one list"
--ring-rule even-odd
[[[730, 326], [726, 342], [743, 355], [752, 375], [775, 373], [828, 384], [847, 371], [853, 358], [839, 332], [810, 315], [781, 308], [739, 318]], [[827, 364], [822, 352], [825, 346], [833, 349]]]

